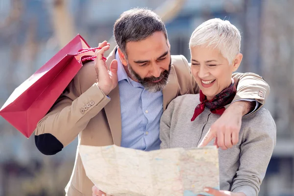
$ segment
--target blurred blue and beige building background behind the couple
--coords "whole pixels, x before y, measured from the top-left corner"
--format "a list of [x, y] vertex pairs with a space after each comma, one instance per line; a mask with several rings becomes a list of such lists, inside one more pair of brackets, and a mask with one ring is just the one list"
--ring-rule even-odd
[[[277, 125], [277, 144], [260, 196], [294, 196], [294, 0], [0, 0], [0, 105], [77, 33], [92, 47], [112, 41], [119, 15], [148, 7], [159, 13], [172, 54], [190, 59], [189, 38], [211, 18], [229, 20], [243, 37], [239, 72], [270, 84], [266, 107]], [[292, 120], [291, 120], [292, 119]], [[42, 155], [0, 118], [0, 196], [63, 196], [77, 141]]]

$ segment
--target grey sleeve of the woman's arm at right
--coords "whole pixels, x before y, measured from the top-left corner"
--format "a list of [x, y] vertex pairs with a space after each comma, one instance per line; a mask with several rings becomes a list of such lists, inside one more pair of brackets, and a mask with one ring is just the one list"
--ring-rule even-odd
[[240, 166], [231, 191], [257, 196], [276, 144], [276, 125], [268, 110], [254, 118], [243, 133]]

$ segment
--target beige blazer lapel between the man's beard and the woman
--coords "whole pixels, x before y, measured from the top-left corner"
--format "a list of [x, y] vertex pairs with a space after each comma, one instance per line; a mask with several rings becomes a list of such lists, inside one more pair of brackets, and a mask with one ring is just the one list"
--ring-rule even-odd
[[171, 67], [171, 73], [167, 86], [162, 90], [163, 94], [163, 111], [167, 109], [168, 104], [177, 96], [178, 82], [174, 67]]

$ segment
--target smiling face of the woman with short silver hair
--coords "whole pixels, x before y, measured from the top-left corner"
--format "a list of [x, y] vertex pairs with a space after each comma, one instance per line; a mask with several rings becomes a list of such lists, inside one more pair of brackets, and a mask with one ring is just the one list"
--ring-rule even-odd
[[232, 73], [241, 63], [242, 54], [237, 54], [233, 63], [224, 58], [213, 46], [191, 49], [192, 74], [208, 100], [214, 98], [232, 83]]

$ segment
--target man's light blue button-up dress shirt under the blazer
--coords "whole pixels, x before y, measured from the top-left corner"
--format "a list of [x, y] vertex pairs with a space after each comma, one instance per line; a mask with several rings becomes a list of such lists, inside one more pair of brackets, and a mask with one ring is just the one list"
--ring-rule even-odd
[[116, 52], [122, 116], [122, 147], [159, 149], [159, 123], [163, 113], [162, 92], [150, 93], [128, 77]]

